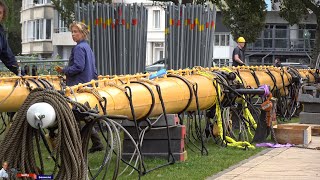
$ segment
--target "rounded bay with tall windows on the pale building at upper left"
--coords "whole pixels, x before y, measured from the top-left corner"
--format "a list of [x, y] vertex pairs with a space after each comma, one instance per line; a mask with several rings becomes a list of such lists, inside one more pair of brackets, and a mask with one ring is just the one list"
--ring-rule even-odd
[[52, 54], [53, 18], [54, 6], [51, 0], [22, 0], [22, 54]]

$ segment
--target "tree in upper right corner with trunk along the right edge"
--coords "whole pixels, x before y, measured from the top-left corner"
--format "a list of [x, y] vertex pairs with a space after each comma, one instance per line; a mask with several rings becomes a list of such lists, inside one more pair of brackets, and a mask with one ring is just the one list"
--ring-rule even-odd
[[316, 16], [317, 27], [315, 43], [312, 52], [311, 66], [314, 67], [318, 54], [320, 53], [320, 1], [318, 0], [282, 0], [280, 16], [290, 25], [299, 24], [309, 13]]

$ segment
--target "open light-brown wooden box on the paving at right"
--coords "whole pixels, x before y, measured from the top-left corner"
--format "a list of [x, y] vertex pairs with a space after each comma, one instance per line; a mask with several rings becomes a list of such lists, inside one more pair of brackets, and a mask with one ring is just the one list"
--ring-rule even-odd
[[311, 127], [303, 125], [278, 124], [273, 127], [280, 144], [303, 144], [311, 142]]

